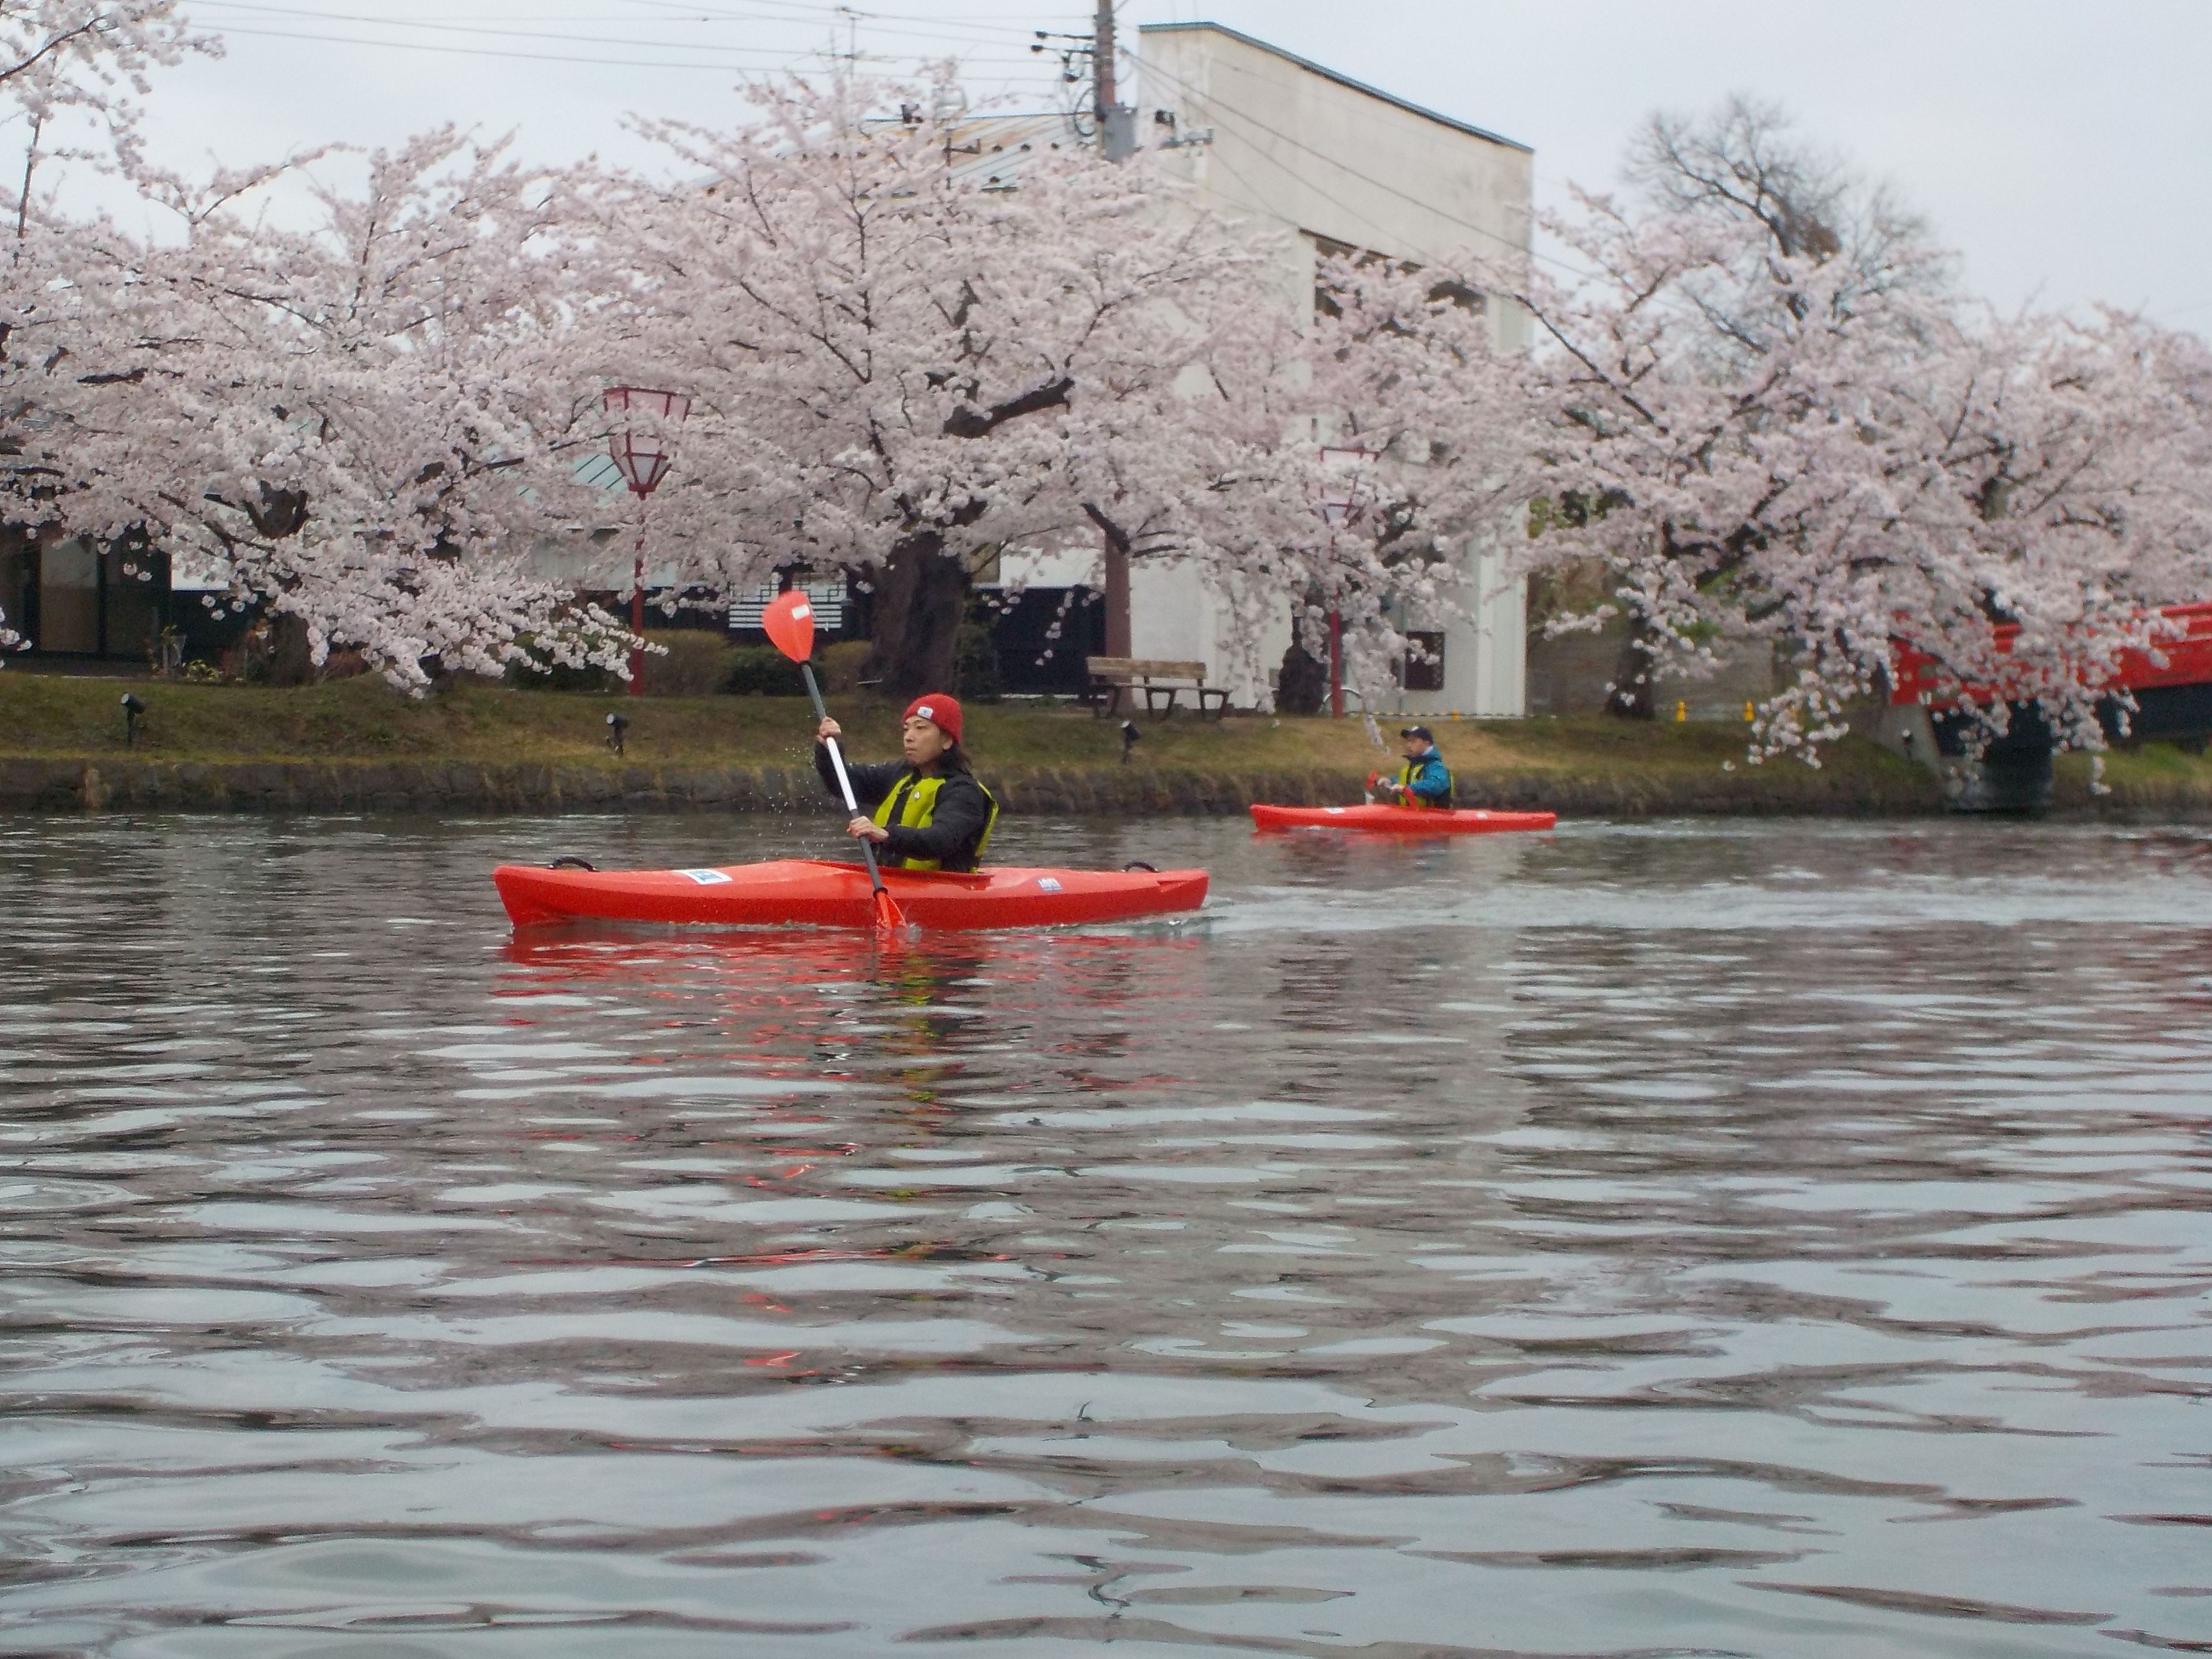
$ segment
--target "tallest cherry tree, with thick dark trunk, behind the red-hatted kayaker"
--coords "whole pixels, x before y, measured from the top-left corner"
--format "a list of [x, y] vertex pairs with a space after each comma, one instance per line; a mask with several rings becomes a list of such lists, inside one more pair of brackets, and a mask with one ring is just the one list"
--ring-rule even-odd
[[891, 695], [945, 684], [971, 564], [1097, 544], [1097, 451], [1172, 442], [1203, 319], [1263, 254], [1141, 166], [1044, 139], [978, 155], [987, 122], [898, 88], [754, 100], [734, 133], [648, 128], [684, 184], [602, 190], [606, 374], [695, 394], [657, 551], [714, 591], [867, 571], [865, 672]]

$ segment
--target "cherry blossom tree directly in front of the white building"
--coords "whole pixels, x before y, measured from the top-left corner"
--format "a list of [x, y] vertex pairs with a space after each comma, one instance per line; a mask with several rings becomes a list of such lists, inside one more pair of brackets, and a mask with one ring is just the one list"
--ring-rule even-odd
[[1325, 659], [1334, 633], [1345, 684], [1371, 701], [1407, 633], [1475, 597], [1464, 555], [1528, 489], [1526, 405], [1491, 301], [1464, 279], [1363, 254], [1310, 272], [1301, 292], [1237, 294], [1212, 316], [1172, 442], [1086, 445], [1082, 500], [1137, 564], [1197, 571], [1232, 677], [1261, 681], [1267, 622], [1287, 613], [1285, 675], [1301, 650]]

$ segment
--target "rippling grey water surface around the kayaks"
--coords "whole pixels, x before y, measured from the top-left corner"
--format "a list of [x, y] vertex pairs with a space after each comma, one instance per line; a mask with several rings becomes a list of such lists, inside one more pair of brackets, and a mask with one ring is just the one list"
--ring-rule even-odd
[[2205, 836], [794, 836], [0, 818], [0, 1652], [2212, 1650]]

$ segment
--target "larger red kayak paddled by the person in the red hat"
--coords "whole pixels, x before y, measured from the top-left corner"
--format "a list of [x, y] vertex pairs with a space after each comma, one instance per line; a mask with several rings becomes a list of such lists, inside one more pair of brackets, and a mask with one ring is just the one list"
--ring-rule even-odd
[[[491, 872], [515, 927], [542, 922], [719, 922], [723, 927], [874, 927], [867, 869], [821, 858], [776, 858], [721, 869]], [[1197, 909], [1203, 869], [980, 869], [973, 876], [885, 869], [916, 927], [1064, 927]]]

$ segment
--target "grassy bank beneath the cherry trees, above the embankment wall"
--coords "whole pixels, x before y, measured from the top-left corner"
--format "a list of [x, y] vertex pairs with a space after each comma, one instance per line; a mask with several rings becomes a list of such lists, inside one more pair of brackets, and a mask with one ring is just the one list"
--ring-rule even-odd
[[[133, 768], [557, 768], [571, 776], [666, 770], [799, 770], [810, 765], [812, 714], [792, 697], [617, 697], [511, 690], [465, 684], [425, 699], [380, 679], [274, 690], [133, 681], [148, 706], [135, 745], [124, 745], [122, 681], [0, 672], [0, 759]], [[606, 717], [630, 726], [626, 757], [606, 743]], [[863, 757], [896, 752], [898, 708], [836, 697], [832, 712]], [[1312, 799], [1358, 799], [1358, 781], [1396, 765], [1358, 719], [1232, 714], [1201, 721], [1139, 717], [1135, 763], [1121, 763], [1115, 721], [1075, 706], [1009, 701], [969, 708], [969, 750], [987, 779], [1053, 774], [1099, 787], [1148, 776], [1245, 787], [1201, 792], [1194, 810], [1232, 810], [1267, 787], [1305, 787]], [[1814, 770], [1796, 761], [1747, 765], [1736, 723], [1637, 726], [1608, 719], [1449, 721], [1438, 741], [1469, 805], [1553, 805], [1562, 812], [1933, 812], [1936, 783], [1885, 750], [1845, 741]], [[2110, 781], [2157, 770], [2161, 787], [2201, 790], [2212, 801], [2212, 765], [2172, 754], [2115, 757]], [[2177, 770], [2179, 768], [2179, 770]], [[1279, 785], [1283, 779], [1312, 783]], [[1108, 794], [1113, 790], [1108, 787]], [[1108, 794], [1102, 794], [1104, 803]], [[1155, 796], [1159, 790], [1155, 787]], [[1188, 792], [1186, 792], [1188, 794]], [[2081, 787], [2086, 796], [2086, 783]], [[1117, 799], [1117, 796], [1115, 796]], [[1177, 796], [1183, 799], [1183, 796]], [[1221, 803], [1228, 801], [1230, 807]], [[1110, 807], [1106, 807], [1110, 810]], [[1170, 807], [1172, 810], [1172, 807]], [[1192, 807], [1183, 807], [1192, 810]]]

